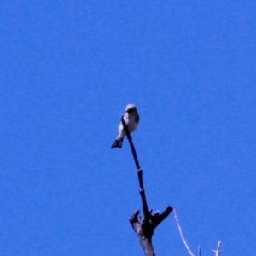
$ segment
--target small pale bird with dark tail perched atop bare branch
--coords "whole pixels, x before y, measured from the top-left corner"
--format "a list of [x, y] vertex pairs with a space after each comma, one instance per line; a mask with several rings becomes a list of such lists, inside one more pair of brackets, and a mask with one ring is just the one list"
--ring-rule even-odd
[[[135, 129], [137, 128], [139, 119], [140, 117], [137, 113], [137, 108], [135, 107], [135, 105], [128, 104], [125, 108], [124, 121], [130, 133], [132, 131], [135, 131]], [[125, 128], [121, 122], [119, 125], [118, 136], [116, 137], [116, 140], [111, 146], [111, 148], [122, 148], [122, 143], [125, 136], [126, 136]]]

